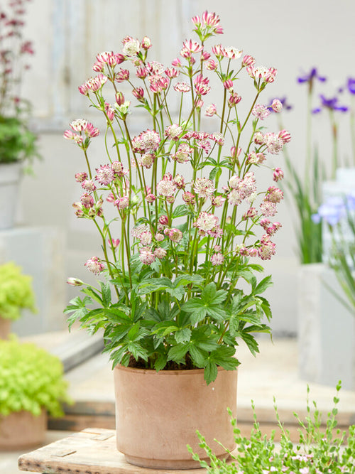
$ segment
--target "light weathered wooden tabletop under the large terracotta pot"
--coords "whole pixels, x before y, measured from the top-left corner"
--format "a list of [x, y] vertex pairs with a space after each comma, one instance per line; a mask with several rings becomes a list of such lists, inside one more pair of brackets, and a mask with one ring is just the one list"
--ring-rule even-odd
[[18, 458], [18, 468], [43, 474], [203, 474], [205, 469], [164, 470], [126, 463], [115, 431], [87, 428]]

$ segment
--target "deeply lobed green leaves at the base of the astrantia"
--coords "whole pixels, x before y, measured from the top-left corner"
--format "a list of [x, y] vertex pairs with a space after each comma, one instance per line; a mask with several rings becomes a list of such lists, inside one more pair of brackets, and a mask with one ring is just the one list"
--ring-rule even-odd
[[[84, 298], [73, 298], [65, 313], [70, 315], [70, 327], [79, 321], [90, 333], [104, 328], [105, 351], [113, 366], [127, 365], [129, 355], [155, 370], [169, 367], [169, 362], [183, 369], [190, 361], [204, 368], [210, 383], [217, 377], [217, 366], [234, 370], [239, 365], [235, 349], [239, 338], [255, 355], [258, 343], [252, 333], [270, 331], [263, 323], [264, 317], [271, 318], [270, 307], [260, 294], [271, 285], [271, 278], [257, 283], [252, 269], [260, 270], [241, 259], [240, 273], [251, 284], [246, 294], [227, 279], [226, 289], [217, 289], [213, 281], [207, 284], [204, 271], [175, 279], [152, 278], [151, 272], [146, 272], [133, 286], [131, 306], [125, 303], [124, 291], [118, 302], [113, 301], [108, 282], [100, 289], [82, 289]], [[236, 274], [238, 271], [234, 269]], [[195, 296], [189, 298], [192, 291]], [[90, 306], [96, 307], [90, 310]]]

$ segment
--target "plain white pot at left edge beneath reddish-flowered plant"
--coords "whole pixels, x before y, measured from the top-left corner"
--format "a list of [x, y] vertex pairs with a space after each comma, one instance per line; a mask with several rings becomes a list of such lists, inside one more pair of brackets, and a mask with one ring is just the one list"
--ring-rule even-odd
[[0, 164], [0, 230], [11, 229], [15, 222], [21, 172], [21, 163]]

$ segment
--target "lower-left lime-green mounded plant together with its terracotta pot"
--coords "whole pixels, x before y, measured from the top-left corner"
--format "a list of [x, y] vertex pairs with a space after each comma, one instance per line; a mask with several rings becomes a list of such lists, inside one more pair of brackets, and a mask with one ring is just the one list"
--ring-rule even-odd
[[31, 343], [0, 340], [0, 450], [42, 443], [47, 412], [70, 402], [62, 363]]

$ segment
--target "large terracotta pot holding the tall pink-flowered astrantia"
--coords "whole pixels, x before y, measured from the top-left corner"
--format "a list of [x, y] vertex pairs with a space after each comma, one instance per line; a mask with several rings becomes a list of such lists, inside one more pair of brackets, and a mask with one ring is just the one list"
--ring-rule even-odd
[[235, 447], [227, 412], [236, 416], [236, 370], [219, 368], [215, 382], [204, 382], [203, 370], [141, 370], [116, 366], [117, 449], [127, 462], [146, 468], [200, 468], [192, 460], [190, 444], [200, 458], [196, 430], [206, 438], [216, 456]]

